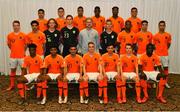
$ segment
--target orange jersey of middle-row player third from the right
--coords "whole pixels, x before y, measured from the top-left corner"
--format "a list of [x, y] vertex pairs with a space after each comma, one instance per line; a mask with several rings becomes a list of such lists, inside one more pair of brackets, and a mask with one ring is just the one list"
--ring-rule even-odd
[[135, 44], [136, 43], [136, 35], [134, 32], [127, 33], [126, 31], [122, 31], [119, 33], [117, 42], [120, 43], [121, 49], [120, 49], [120, 54], [125, 54], [126, 53], [126, 44]]

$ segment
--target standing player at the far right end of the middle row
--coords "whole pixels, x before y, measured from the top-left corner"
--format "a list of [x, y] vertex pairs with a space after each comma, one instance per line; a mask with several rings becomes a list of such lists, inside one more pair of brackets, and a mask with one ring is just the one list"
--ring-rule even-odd
[[[171, 45], [171, 34], [165, 32], [166, 23], [165, 21], [159, 22], [159, 32], [156, 33], [153, 37], [153, 43], [156, 47], [155, 53], [160, 56], [162, 66], [164, 68], [164, 73], [166, 75], [169, 74], [169, 59], [168, 59], [168, 50]], [[170, 88], [168, 83], [166, 83], [166, 87]]]

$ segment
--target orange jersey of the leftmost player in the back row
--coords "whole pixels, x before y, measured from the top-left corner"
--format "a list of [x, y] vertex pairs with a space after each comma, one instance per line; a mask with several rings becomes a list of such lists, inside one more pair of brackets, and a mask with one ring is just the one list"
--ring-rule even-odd
[[47, 30], [47, 22], [48, 20], [46, 19], [37, 19], [38, 23], [39, 23], [39, 30], [44, 32], [45, 30]]

